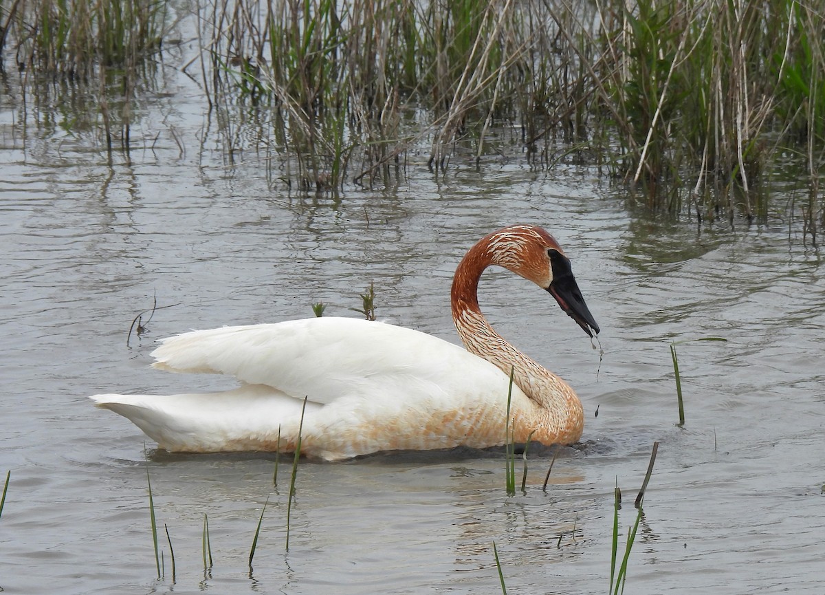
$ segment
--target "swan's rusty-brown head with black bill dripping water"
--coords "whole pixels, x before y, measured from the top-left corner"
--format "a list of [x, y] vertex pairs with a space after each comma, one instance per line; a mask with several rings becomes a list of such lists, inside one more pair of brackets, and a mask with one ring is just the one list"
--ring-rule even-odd
[[599, 325], [578, 289], [570, 261], [552, 235], [536, 225], [512, 225], [489, 234], [482, 242], [492, 264], [547, 290], [588, 336], [599, 333]]

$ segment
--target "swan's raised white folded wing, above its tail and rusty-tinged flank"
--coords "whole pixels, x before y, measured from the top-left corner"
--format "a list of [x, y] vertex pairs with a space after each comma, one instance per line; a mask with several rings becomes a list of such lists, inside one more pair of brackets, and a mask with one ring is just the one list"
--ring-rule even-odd
[[503, 375], [427, 333], [336, 317], [192, 331], [164, 339], [152, 356], [162, 370], [233, 375], [318, 404], [348, 395], [464, 393], [495, 376], [501, 384]]

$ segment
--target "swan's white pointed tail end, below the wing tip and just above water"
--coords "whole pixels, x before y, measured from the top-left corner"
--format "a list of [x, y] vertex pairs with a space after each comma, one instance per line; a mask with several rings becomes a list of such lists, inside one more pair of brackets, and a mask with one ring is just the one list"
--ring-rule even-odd
[[[303, 400], [252, 385], [221, 393], [95, 394], [90, 399], [171, 452], [294, 451], [303, 405]], [[315, 408], [308, 403], [307, 413]]]

